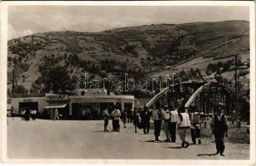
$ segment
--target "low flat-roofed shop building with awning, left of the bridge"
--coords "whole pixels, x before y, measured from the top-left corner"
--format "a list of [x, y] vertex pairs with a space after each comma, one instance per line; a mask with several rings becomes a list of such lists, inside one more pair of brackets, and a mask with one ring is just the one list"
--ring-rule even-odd
[[20, 115], [21, 110], [38, 110], [38, 116], [48, 118], [51, 109], [58, 109], [63, 120], [100, 120], [103, 110], [120, 105], [122, 110], [133, 110], [133, 95], [107, 94], [106, 90], [78, 92], [76, 95], [46, 94], [44, 96], [13, 96], [8, 98], [8, 105], [13, 113]]

